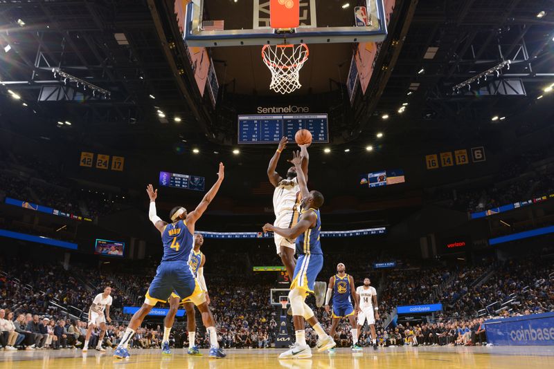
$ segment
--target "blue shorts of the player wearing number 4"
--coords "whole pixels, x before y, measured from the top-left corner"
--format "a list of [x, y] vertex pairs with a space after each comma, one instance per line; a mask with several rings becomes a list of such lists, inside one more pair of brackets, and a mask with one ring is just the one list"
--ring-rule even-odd
[[[156, 275], [146, 292], [145, 303], [151, 306], [157, 302], [165, 303], [172, 292], [179, 296], [192, 296], [195, 294], [197, 282], [184, 261], [164, 261], [158, 266]], [[202, 290], [200, 290], [201, 293]]]

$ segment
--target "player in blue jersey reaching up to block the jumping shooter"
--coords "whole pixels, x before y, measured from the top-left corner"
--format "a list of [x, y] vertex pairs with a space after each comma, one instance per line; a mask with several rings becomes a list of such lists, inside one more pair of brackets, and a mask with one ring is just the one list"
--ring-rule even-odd
[[280, 354], [279, 359], [307, 359], [312, 357], [312, 350], [306, 344], [305, 320], [312, 325], [318, 335], [317, 350], [319, 352], [334, 347], [336, 343], [321, 328], [314, 312], [305, 303], [307, 294], [314, 293], [317, 274], [323, 267], [323, 252], [319, 242], [319, 232], [321, 231], [319, 207], [323, 205], [323, 195], [319, 191], [308, 191], [301, 168], [301, 153], [294, 152], [291, 162], [296, 168], [296, 178], [298, 178], [302, 195], [303, 211], [301, 211], [300, 219], [292, 228], [275, 227], [268, 223], [263, 227], [263, 230], [273, 231], [289, 239], [296, 238], [296, 252], [299, 257], [294, 268], [294, 276], [289, 292], [296, 342], [290, 350]]

